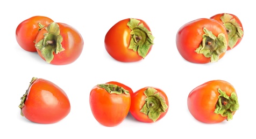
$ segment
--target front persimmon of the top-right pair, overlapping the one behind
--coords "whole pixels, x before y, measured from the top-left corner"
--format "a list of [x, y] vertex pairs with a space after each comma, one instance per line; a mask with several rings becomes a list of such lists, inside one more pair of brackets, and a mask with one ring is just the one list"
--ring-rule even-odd
[[214, 19], [201, 18], [190, 21], [176, 34], [177, 50], [191, 63], [218, 61], [225, 55], [227, 43], [226, 28]]

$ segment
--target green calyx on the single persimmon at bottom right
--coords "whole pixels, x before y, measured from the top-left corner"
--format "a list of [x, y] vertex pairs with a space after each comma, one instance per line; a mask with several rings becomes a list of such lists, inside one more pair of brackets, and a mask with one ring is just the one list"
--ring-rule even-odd
[[234, 112], [239, 109], [237, 95], [235, 92], [232, 92], [231, 95], [228, 96], [226, 92], [221, 89], [218, 89], [218, 92], [218, 102], [214, 113], [227, 117], [227, 121], [232, 120]]

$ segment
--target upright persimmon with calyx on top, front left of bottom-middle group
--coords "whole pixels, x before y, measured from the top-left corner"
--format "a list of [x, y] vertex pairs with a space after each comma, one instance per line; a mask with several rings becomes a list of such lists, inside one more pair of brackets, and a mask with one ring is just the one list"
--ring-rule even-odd
[[98, 84], [90, 91], [89, 104], [99, 123], [113, 127], [119, 125], [129, 113], [131, 96], [116, 84]]

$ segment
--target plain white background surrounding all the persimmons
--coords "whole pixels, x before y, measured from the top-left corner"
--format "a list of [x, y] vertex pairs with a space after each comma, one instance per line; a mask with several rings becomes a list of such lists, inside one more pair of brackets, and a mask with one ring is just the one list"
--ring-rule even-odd
[[[0, 138], [255, 138], [255, 20], [253, 1], [3, 1], [1, 13]], [[242, 22], [244, 37], [217, 63], [193, 64], [176, 49], [177, 30], [189, 21], [232, 13]], [[47, 64], [36, 52], [19, 47], [15, 30], [32, 16], [46, 16], [75, 27], [84, 40], [81, 56], [69, 65]], [[106, 32], [126, 18], [143, 19], [155, 37], [148, 56], [120, 63], [104, 48]], [[58, 123], [32, 123], [20, 115], [20, 97], [32, 77], [52, 81], [66, 91], [72, 106]], [[210, 80], [230, 82], [239, 110], [233, 120], [205, 124], [187, 109], [189, 92]], [[133, 91], [146, 86], [164, 90], [169, 111], [160, 121], [142, 123], [130, 114], [116, 127], [100, 125], [89, 106], [91, 88], [118, 81]]]

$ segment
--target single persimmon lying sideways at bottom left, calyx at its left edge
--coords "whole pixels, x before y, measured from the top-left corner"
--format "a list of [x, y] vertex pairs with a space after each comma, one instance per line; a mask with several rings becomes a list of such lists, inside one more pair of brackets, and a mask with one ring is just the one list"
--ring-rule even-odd
[[70, 112], [65, 91], [51, 81], [32, 78], [20, 102], [21, 114], [36, 123], [55, 123]]

